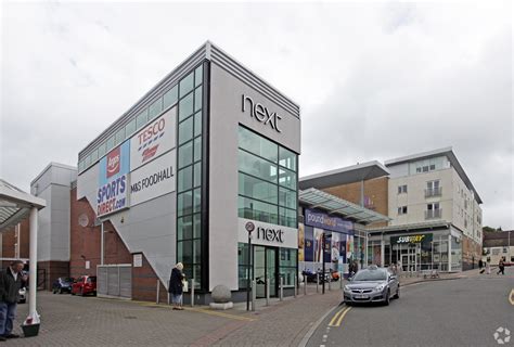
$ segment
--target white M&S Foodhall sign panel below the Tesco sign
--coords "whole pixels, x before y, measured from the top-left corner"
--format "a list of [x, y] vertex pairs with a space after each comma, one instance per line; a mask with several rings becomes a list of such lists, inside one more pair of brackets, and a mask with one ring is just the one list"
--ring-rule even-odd
[[172, 150], [130, 174], [131, 206], [175, 192], [176, 157]]

